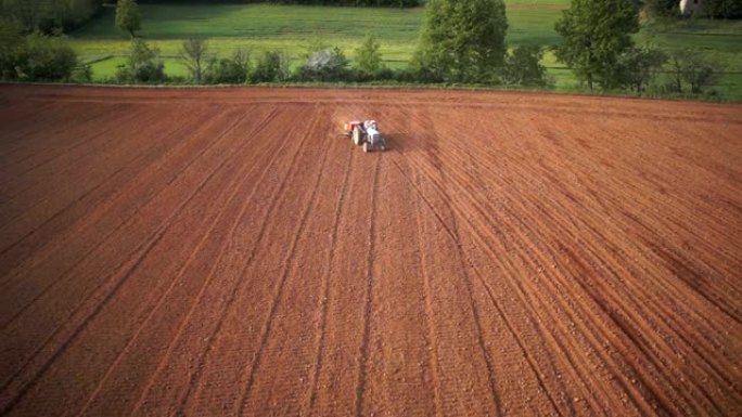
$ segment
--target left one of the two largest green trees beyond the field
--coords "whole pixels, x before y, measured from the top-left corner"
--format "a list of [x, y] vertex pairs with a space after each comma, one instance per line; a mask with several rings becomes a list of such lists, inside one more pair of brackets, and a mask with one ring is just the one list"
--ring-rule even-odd
[[489, 82], [502, 67], [507, 30], [502, 0], [431, 0], [412, 66], [432, 79]]

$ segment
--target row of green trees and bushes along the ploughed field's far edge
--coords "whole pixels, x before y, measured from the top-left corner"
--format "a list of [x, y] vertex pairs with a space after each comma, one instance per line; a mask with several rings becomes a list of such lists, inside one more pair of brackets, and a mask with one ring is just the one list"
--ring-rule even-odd
[[[90, 16], [100, 0], [0, 0], [0, 76], [5, 80], [90, 80], [90, 67], [78, 65], [75, 52], [55, 37], [30, 31], [36, 16], [76, 11]], [[215, 0], [218, 1], [218, 0]], [[648, 0], [652, 1], [652, 0]], [[660, 0], [656, 0], [657, 2]], [[739, 0], [738, 0], [739, 1]], [[140, 0], [145, 2], [145, 0]], [[176, 1], [171, 1], [176, 2]], [[180, 1], [187, 3], [190, 1]], [[251, 2], [251, 1], [241, 1]], [[412, 5], [417, 1], [338, 0], [281, 1], [282, 3]], [[189, 39], [181, 48], [181, 62], [190, 79], [168, 77], [159, 51], [138, 38], [142, 16], [136, 0], [118, 0], [116, 27], [131, 39], [128, 60], [114, 82], [121, 83], [245, 83], [245, 82], [368, 82], [457, 83], [525, 86], [543, 88], [551, 79], [542, 65], [545, 50], [538, 45], [509, 49], [509, 29], [503, 0], [427, 0], [425, 19], [417, 50], [407, 68], [383, 65], [380, 43], [369, 34], [355, 51], [355, 60], [332, 44], [312, 44], [296, 60], [280, 51], [253, 54], [247, 50], [231, 56], [209, 54], [207, 39]], [[36, 4], [40, 9], [34, 9]], [[664, 4], [664, 3], [663, 3]], [[43, 5], [43, 8], [41, 8]], [[76, 9], [76, 8], [79, 8]], [[11, 10], [12, 12], [9, 12]], [[85, 12], [85, 13], [84, 13]], [[556, 22], [561, 44], [552, 51], [590, 90], [644, 92], [656, 87], [661, 73], [669, 74], [654, 89], [658, 93], [703, 92], [713, 84], [718, 68], [691, 51], [666, 53], [649, 45], [637, 47], [639, 6], [634, 0], [572, 0]], [[292, 62], [293, 61], [293, 62]]]

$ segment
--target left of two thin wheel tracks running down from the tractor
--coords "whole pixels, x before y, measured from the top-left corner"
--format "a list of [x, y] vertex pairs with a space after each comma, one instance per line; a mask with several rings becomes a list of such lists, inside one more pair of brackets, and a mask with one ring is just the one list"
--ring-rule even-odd
[[333, 229], [330, 237], [330, 253], [328, 255], [328, 261], [323, 271], [322, 279], [322, 292], [320, 299], [320, 325], [319, 325], [319, 336], [317, 340], [317, 353], [315, 354], [315, 369], [311, 376], [311, 381], [309, 386], [309, 400], [306, 407], [307, 414], [311, 416], [315, 411], [315, 400], [317, 398], [317, 381], [319, 379], [320, 372], [322, 370], [322, 353], [324, 353], [324, 334], [327, 331], [328, 322], [328, 308], [330, 305], [330, 274], [332, 273], [332, 268], [335, 264], [335, 249], [337, 244], [337, 231], [340, 227], [341, 219], [343, 218], [343, 208], [345, 207], [345, 197], [348, 190], [348, 183], [350, 182], [350, 167], [353, 166], [353, 156], [356, 152], [348, 153], [348, 164], [345, 167], [343, 185], [341, 187], [340, 197], [335, 206], [335, 213], [333, 216]]

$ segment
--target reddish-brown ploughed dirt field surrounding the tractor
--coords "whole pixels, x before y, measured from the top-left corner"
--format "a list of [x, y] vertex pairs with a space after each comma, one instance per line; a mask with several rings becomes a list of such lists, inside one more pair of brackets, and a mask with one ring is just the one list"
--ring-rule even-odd
[[0, 173], [0, 415], [742, 415], [740, 105], [3, 86]]

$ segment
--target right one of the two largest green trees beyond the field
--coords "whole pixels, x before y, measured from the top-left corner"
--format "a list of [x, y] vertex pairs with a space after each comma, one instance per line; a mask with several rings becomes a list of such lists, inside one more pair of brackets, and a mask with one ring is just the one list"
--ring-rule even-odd
[[556, 58], [572, 67], [592, 90], [621, 84], [618, 58], [634, 45], [631, 34], [639, 31], [639, 11], [631, 0], [572, 0], [562, 12], [555, 29], [562, 43]]

